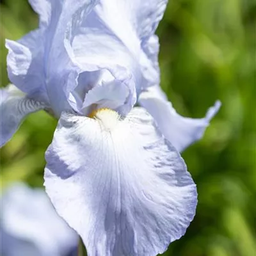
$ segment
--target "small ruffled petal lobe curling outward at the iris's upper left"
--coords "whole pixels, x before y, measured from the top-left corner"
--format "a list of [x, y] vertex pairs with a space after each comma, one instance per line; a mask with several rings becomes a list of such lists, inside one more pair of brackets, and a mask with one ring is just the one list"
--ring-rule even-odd
[[6, 40], [7, 70], [10, 81], [37, 100], [48, 101], [44, 86], [40, 31], [32, 31], [21, 40]]

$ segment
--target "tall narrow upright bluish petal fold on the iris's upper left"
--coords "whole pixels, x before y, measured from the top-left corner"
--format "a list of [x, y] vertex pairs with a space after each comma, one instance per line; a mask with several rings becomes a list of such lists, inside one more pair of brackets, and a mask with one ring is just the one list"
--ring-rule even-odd
[[[44, 45], [45, 74], [47, 92], [57, 116], [60, 116], [62, 111], [71, 109], [69, 96], [70, 92], [76, 88], [79, 76], [79, 68], [72, 63], [65, 48], [67, 28], [72, 24], [72, 17], [76, 16], [77, 12], [83, 12], [84, 16], [87, 16], [96, 2], [96, 0], [51, 1], [51, 22], [49, 31], [45, 34]], [[60, 99], [56, 100], [56, 97]]]

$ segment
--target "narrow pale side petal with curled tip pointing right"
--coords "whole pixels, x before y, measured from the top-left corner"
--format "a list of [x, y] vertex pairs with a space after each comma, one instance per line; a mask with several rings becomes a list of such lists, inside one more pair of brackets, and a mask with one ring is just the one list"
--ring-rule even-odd
[[164, 137], [181, 152], [191, 143], [200, 140], [212, 117], [220, 109], [220, 101], [209, 108], [204, 118], [187, 118], [180, 116], [165, 99], [159, 86], [148, 88], [142, 92], [139, 103], [152, 115]]

